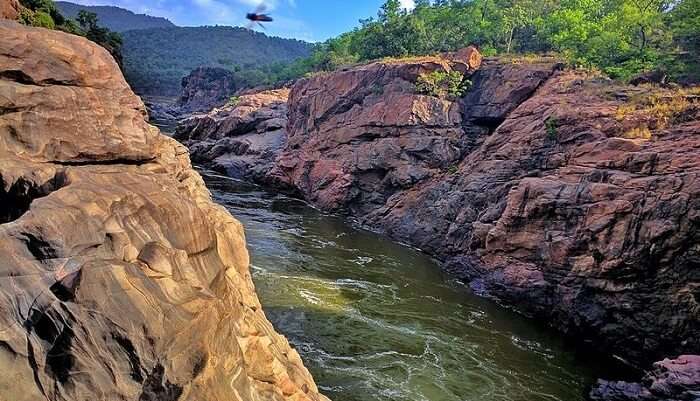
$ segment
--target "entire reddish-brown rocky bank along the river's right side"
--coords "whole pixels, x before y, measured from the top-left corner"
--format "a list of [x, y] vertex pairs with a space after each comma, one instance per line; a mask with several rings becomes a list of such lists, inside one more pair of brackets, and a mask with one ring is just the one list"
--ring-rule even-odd
[[[471, 88], [419, 93], [434, 71]], [[465, 49], [319, 74], [288, 97], [250, 94], [175, 137], [198, 163], [352, 216], [476, 293], [650, 369], [591, 397], [694, 399], [699, 121], [692, 93]]]

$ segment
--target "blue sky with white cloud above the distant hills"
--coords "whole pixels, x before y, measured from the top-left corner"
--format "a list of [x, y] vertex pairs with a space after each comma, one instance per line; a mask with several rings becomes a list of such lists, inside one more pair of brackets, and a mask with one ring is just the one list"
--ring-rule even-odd
[[[245, 26], [245, 14], [261, 3], [275, 18], [266, 33], [307, 41], [323, 41], [375, 16], [383, 0], [67, 0], [79, 4], [114, 5], [140, 14], [165, 17], [181, 26]], [[401, 0], [412, 7], [413, 0]], [[257, 28], [260, 30], [260, 28]]]

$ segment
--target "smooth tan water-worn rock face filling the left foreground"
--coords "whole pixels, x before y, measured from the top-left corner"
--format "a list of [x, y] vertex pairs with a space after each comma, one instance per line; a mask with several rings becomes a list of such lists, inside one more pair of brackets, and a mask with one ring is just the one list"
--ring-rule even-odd
[[325, 400], [111, 56], [0, 21], [0, 398]]

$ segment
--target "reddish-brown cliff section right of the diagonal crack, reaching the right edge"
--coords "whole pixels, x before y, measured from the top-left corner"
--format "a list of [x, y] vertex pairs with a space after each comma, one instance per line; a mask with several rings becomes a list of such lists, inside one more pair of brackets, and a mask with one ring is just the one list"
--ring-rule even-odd
[[620, 138], [619, 103], [586, 82], [554, 73], [453, 174], [362, 221], [601, 349], [697, 352], [700, 125]]

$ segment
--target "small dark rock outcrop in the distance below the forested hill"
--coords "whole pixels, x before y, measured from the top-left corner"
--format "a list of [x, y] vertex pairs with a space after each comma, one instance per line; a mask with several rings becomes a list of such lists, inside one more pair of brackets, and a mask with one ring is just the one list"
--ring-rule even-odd
[[206, 112], [224, 105], [236, 91], [233, 73], [224, 68], [199, 67], [182, 78], [180, 112]]

